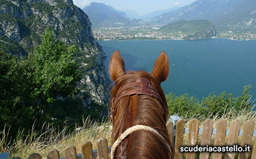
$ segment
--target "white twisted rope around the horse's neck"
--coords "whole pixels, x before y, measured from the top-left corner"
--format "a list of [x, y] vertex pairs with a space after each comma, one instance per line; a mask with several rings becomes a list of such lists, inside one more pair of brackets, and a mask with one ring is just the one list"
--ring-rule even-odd
[[[116, 148], [118, 147], [118, 145], [131, 133], [133, 133], [134, 131], [138, 131], [138, 130], [145, 130], [145, 131], [151, 131], [153, 133], [155, 133], [156, 135], [160, 136], [163, 140], [164, 137], [162, 135], [160, 135], [160, 133], [158, 133], [156, 131], [156, 129], [153, 129], [152, 127], [149, 126], [143, 126], [143, 125], [136, 125], [133, 127], [129, 127], [128, 129], [125, 130], [125, 132], [122, 133], [122, 135], [120, 135], [118, 137], [118, 139], [114, 142], [114, 144], [111, 147], [111, 159], [114, 159], [114, 152], [116, 151]], [[171, 147], [166, 143], [169, 152], [171, 153]]]

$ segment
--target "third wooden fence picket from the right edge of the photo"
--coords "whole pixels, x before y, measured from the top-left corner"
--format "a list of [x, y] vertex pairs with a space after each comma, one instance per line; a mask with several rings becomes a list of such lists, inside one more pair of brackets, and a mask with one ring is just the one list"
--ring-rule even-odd
[[[217, 129], [216, 129], [216, 135], [214, 140], [215, 146], [223, 146], [225, 135], [226, 135], [226, 127], [227, 122], [226, 120], [219, 120], [217, 122]], [[222, 153], [213, 153], [213, 159], [220, 159], [222, 158]]]

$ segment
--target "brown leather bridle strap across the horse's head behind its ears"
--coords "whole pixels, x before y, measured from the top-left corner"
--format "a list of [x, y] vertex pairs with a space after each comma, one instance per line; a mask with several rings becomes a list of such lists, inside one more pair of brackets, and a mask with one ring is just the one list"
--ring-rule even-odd
[[[128, 91], [127, 89], [132, 89]], [[127, 84], [123, 86], [122, 89], [118, 90], [116, 95], [111, 100], [111, 122], [114, 122], [114, 116], [116, 115], [116, 107], [120, 99], [123, 97], [131, 96], [131, 95], [149, 95], [158, 99], [166, 109], [166, 104], [163, 101], [162, 97], [159, 95], [158, 90], [155, 88], [153, 84], [148, 79], [140, 77], [136, 79], [136, 82], [131, 84]]]

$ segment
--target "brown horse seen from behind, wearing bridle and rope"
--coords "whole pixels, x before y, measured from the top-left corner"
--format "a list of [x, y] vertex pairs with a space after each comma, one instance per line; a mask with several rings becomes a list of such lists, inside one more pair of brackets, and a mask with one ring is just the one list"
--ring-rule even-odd
[[125, 71], [118, 50], [109, 64], [111, 89], [111, 158], [173, 159], [167, 133], [168, 108], [160, 83], [167, 79], [169, 61], [162, 51], [151, 73]]

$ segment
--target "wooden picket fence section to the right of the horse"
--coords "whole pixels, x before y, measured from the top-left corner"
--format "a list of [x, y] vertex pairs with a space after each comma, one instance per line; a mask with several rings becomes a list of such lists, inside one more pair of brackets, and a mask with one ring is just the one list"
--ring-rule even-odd
[[[219, 120], [217, 122], [216, 129], [213, 129], [213, 121], [209, 119], [203, 122], [201, 129], [198, 129], [199, 122], [195, 118], [189, 120], [187, 128], [184, 127], [183, 119], [179, 119], [176, 122], [175, 131], [173, 131], [174, 125], [172, 122], [169, 123], [167, 127], [170, 130], [169, 136], [171, 138], [171, 142], [175, 145], [175, 153], [176, 153], [177, 159], [182, 158], [182, 155], [185, 156], [187, 159], [188, 158], [192, 159], [192, 158], [195, 158], [196, 156], [196, 153], [182, 154], [180, 152], [180, 147], [184, 145], [184, 134], [186, 134], [187, 146], [195, 146], [195, 145], [224, 146], [224, 145], [239, 144], [240, 146], [244, 147], [244, 145], [250, 145], [251, 152], [239, 153], [238, 158], [256, 159], [256, 140], [255, 140], [256, 131], [255, 130], [253, 131], [254, 129], [253, 120], [246, 121], [244, 123], [243, 129], [240, 129], [239, 120], [234, 120], [233, 122], [231, 122], [229, 129], [226, 129], [227, 127], [226, 120]], [[175, 135], [173, 135], [173, 133], [175, 133]], [[175, 137], [173, 138], [172, 136], [175, 136]], [[240, 142], [239, 142], [239, 136], [241, 136]], [[252, 143], [253, 136], [254, 136], [255, 143]], [[213, 142], [213, 144], [211, 142]], [[206, 153], [206, 152], [200, 153], [199, 158], [200, 159], [209, 158], [210, 154], [212, 159], [235, 158], [235, 153]]]

